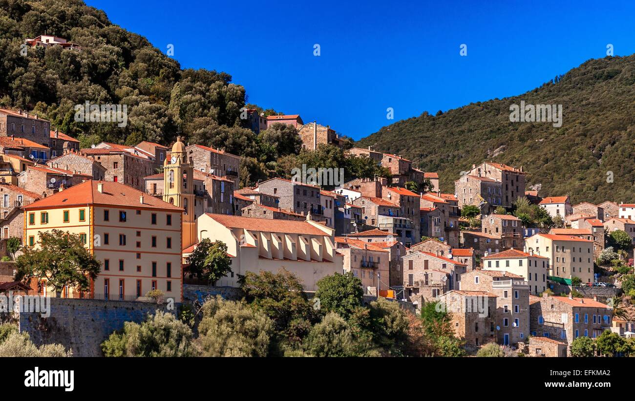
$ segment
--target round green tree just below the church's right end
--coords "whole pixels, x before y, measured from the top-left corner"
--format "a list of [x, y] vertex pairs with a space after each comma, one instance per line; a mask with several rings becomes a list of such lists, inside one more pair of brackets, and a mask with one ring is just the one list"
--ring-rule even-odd
[[361, 280], [352, 272], [325, 276], [318, 280], [316, 286], [316, 298], [326, 312], [335, 312], [348, 319], [353, 310], [362, 304], [364, 290]]

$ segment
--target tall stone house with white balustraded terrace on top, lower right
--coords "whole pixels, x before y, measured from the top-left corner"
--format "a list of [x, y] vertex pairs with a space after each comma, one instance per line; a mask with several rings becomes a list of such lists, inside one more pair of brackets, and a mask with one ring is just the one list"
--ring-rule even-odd
[[496, 294], [495, 329], [499, 344], [516, 345], [526, 341], [530, 288], [524, 277], [504, 270], [474, 270], [462, 275], [461, 290]]

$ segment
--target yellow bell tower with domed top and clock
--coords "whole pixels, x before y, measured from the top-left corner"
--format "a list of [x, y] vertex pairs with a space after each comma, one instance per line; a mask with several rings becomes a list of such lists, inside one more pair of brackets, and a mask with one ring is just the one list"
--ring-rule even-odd
[[194, 219], [194, 172], [187, 162], [187, 152], [181, 137], [172, 146], [170, 159], [163, 162], [163, 200], [183, 208], [183, 248], [196, 244]]

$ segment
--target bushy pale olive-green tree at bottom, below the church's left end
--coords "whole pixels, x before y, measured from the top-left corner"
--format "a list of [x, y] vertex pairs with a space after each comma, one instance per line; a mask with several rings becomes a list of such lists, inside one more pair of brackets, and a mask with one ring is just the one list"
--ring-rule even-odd
[[266, 357], [274, 336], [271, 319], [244, 301], [221, 296], [203, 304], [196, 346], [204, 357]]

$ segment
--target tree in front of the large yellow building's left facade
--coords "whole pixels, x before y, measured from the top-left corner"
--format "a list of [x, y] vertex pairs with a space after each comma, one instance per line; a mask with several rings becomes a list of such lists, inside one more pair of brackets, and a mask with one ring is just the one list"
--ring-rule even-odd
[[[36, 246], [22, 247], [22, 254], [15, 261], [15, 280], [46, 285], [60, 293], [65, 286], [88, 291], [90, 280], [100, 272], [100, 262], [84, 246], [77, 234], [60, 230], [39, 233]], [[41, 284], [39, 284], [41, 285]]]

